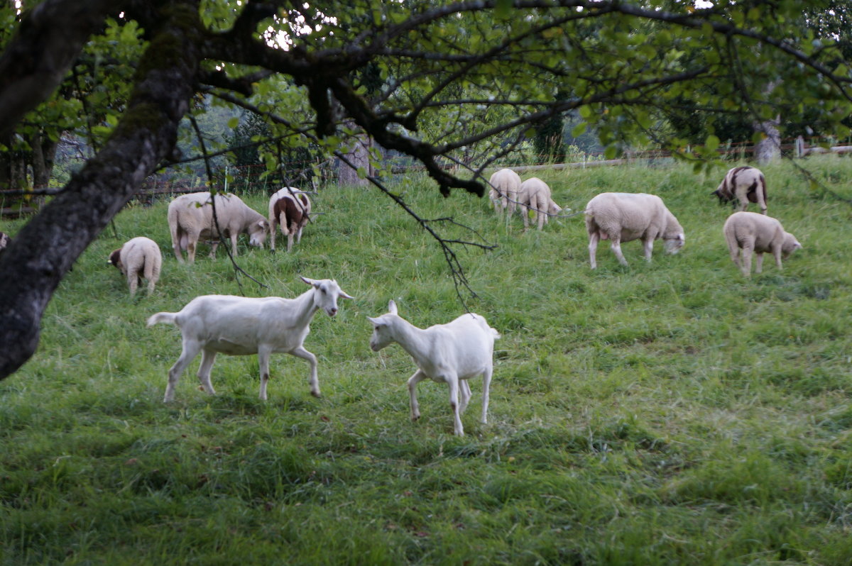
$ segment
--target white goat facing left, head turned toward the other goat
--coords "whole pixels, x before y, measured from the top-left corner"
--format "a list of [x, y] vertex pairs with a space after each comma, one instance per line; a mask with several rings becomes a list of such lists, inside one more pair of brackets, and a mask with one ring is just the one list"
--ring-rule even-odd
[[470, 400], [468, 380], [482, 375], [482, 422], [487, 422], [494, 340], [500, 337], [497, 330], [488, 326], [485, 318], [473, 313], [463, 314], [452, 323], [418, 329], [400, 317], [393, 300], [388, 303], [388, 311], [381, 317], [367, 317], [373, 325], [370, 347], [373, 352], [378, 352], [391, 342], [396, 342], [417, 364], [417, 371], [408, 379], [412, 420], [420, 418], [417, 383], [426, 378], [446, 383], [450, 386], [453, 432], [463, 437], [464, 429], [459, 415], [467, 408]]

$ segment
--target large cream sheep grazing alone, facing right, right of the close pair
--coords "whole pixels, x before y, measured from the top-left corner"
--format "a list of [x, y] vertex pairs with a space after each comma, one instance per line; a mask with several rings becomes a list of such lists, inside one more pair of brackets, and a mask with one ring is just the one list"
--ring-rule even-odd
[[595, 269], [599, 240], [613, 241], [613, 253], [622, 266], [627, 265], [621, 243], [642, 240], [645, 259], [651, 260], [653, 241], [662, 238], [665, 251], [676, 254], [683, 247], [683, 228], [663, 200], [644, 192], [602, 192], [585, 208], [586, 232], [589, 232], [589, 262]]

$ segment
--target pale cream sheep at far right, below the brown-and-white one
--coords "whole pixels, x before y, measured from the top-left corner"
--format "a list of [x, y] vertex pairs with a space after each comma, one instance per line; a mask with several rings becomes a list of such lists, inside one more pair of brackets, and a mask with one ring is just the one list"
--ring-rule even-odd
[[[785, 232], [778, 220], [754, 212], [735, 212], [725, 220], [722, 227], [731, 260], [740, 267], [746, 277], [751, 277], [751, 254], [757, 254], [755, 272], [763, 268], [763, 253], [772, 252], [775, 265], [781, 269], [781, 257], [785, 260], [801, 243], [790, 232]], [[740, 260], [741, 256], [741, 260]]]

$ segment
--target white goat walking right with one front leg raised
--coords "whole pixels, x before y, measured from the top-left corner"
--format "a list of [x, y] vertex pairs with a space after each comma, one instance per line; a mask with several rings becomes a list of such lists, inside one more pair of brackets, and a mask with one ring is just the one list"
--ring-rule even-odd
[[283, 352], [308, 360], [311, 364], [311, 394], [320, 397], [317, 358], [302, 346], [310, 332], [308, 325], [320, 309], [330, 317], [336, 315], [338, 297], [353, 297], [343, 293], [333, 279], [302, 277], [302, 281], [311, 289], [296, 299], [208, 294], [189, 301], [180, 312], [158, 312], [148, 318], [149, 327], [156, 323], [170, 323], [181, 329], [183, 348], [181, 356], [169, 370], [164, 402], [175, 398], [177, 380], [199, 352], [202, 352], [199, 381], [210, 395], [216, 395], [210, 383], [210, 369], [217, 353], [230, 356], [257, 354], [261, 370], [260, 398], [265, 401], [269, 355]]

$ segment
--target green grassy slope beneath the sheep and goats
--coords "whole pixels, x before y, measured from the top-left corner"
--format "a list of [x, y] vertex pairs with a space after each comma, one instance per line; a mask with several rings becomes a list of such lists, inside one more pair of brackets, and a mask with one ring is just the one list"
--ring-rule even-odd
[[[806, 166], [852, 197], [849, 158]], [[60, 285], [36, 356], [0, 382], [3, 563], [852, 563], [852, 207], [789, 163], [763, 170], [769, 214], [804, 249], [751, 280], [710, 195], [721, 169], [539, 172], [575, 210], [654, 192], [686, 230], [680, 254], [658, 243], [651, 264], [641, 243], [623, 246], [628, 267], [604, 243], [595, 272], [581, 217], [521, 233], [486, 199], [391, 183], [498, 245], [459, 250], [470, 309], [503, 334], [489, 422], [475, 380], [461, 438], [446, 386], [419, 386], [412, 423], [411, 359], [368, 346], [366, 316], [389, 299], [421, 327], [463, 312], [440, 249], [387, 197], [327, 188], [294, 253], [241, 248], [269, 286], [243, 278], [247, 295], [295, 296], [302, 274], [355, 297], [306, 340], [323, 397], [307, 363], [279, 354], [266, 403], [256, 357], [219, 357], [216, 397], [193, 363], [162, 402], [180, 334], [146, 318], [240, 289], [222, 249], [176, 263], [166, 202], [125, 209], [118, 238], [107, 229]], [[163, 276], [130, 300], [106, 259], [139, 235], [161, 244]]]

